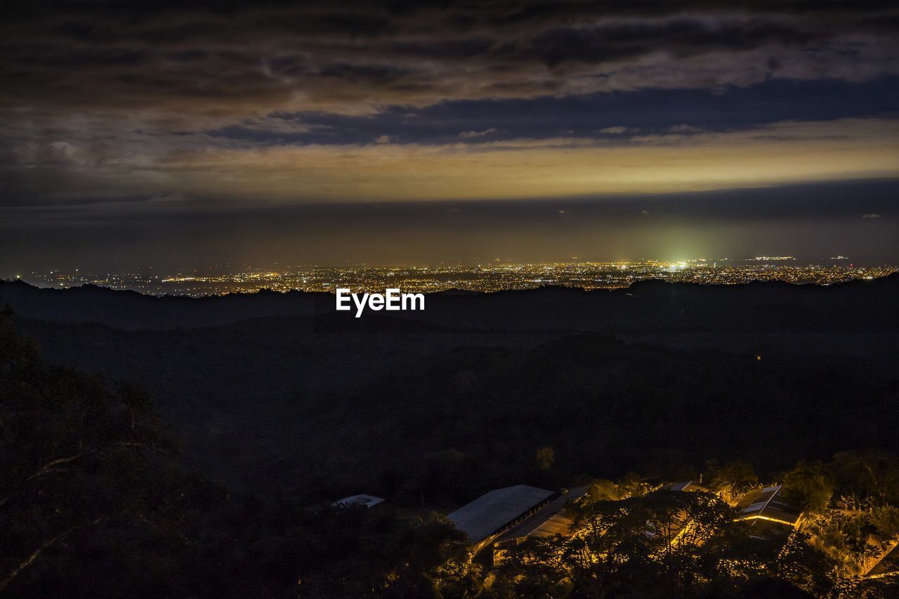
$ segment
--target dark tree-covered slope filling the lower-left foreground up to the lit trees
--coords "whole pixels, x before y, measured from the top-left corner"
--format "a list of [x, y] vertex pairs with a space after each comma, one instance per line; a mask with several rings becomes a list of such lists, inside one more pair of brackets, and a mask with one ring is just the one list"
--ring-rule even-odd
[[467, 563], [436, 516], [228, 496], [146, 394], [42, 362], [9, 312], [0, 398], [0, 596], [405, 597]]

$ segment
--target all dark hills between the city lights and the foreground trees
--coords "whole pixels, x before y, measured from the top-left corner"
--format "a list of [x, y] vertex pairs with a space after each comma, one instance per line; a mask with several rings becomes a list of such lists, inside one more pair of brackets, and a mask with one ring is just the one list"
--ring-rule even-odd
[[[50, 362], [149, 389], [185, 459], [236, 488], [402, 503], [423, 486], [441, 504], [522, 481], [899, 449], [897, 291], [895, 276], [640, 282], [438, 293], [423, 312], [360, 318], [299, 292], [4, 283], [0, 302]], [[557, 465], [536, 472], [547, 445]]]

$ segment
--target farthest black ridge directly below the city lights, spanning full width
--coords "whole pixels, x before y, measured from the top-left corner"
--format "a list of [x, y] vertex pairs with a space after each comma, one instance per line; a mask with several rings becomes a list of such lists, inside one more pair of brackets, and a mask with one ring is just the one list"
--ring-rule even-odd
[[[627, 290], [545, 287], [496, 293], [434, 293], [423, 312], [336, 313], [326, 293], [260, 291], [221, 297], [149, 297], [93, 285], [39, 289], [0, 283], [0, 303], [22, 317], [95, 322], [126, 330], [228, 325], [260, 317], [316, 317], [329, 330], [370, 330], [378, 320], [504, 331], [819, 333], [899, 328], [899, 275], [822, 287], [785, 282], [703, 286], [637, 282]], [[340, 323], [343, 322], [343, 326]], [[393, 325], [396, 328], [399, 325]], [[336, 328], [335, 328], [336, 327]], [[381, 325], [374, 326], [382, 328]]]

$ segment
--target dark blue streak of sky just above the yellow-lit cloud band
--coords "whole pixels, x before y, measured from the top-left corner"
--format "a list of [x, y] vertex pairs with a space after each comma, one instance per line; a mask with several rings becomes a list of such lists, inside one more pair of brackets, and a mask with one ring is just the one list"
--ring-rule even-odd
[[[821, 102], [821, 98], [827, 102]], [[383, 135], [397, 143], [480, 143], [485, 139], [595, 138], [746, 129], [776, 121], [829, 121], [895, 112], [899, 76], [859, 84], [779, 81], [725, 94], [710, 90], [643, 90], [534, 100], [445, 102], [414, 112], [376, 115], [272, 113], [258, 121], [209, 130], [213, 137], [261, 144], [365, 144]], [[293, 123], [293, 128], [289, 124]], [[298, 125], [305, 125], [299, 128]]]

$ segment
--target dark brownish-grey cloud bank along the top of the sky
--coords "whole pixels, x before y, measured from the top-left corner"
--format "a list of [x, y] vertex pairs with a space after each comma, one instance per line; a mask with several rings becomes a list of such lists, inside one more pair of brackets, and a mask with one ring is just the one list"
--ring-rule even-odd
[[893, 4], [7, 2], [0, 107], [65, 94], [73, 110], [370, 112], [751, 85], [785, 63], [785, 76], [864, 79], [899, 68]]

